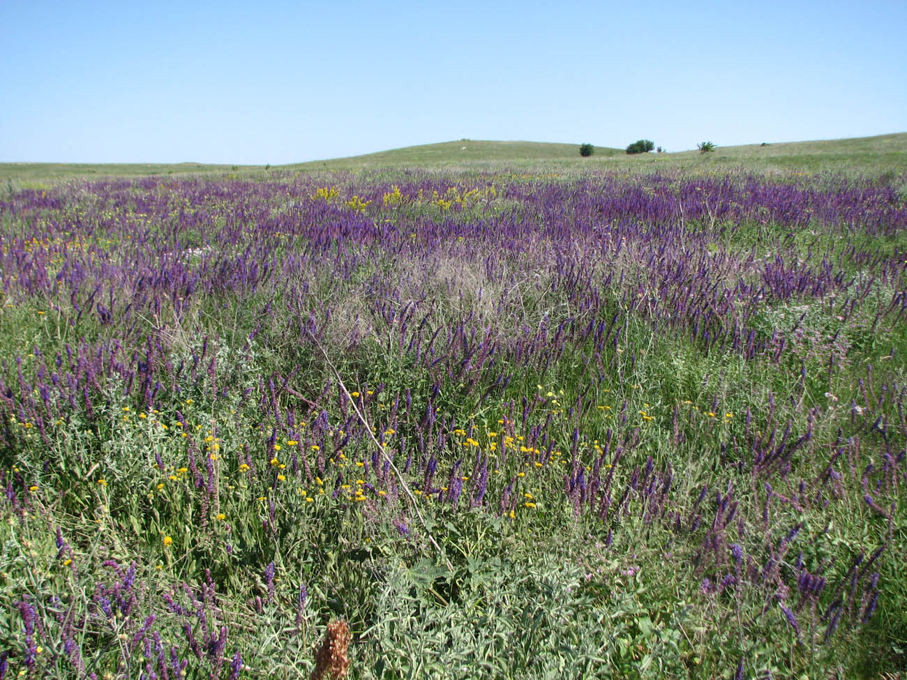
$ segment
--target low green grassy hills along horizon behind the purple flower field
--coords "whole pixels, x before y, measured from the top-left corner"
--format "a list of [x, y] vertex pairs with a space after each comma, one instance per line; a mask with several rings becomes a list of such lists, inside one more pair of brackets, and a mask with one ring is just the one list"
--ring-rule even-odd
[[[720, 142], [720, 141], [718, 141]], [[540, 141], [445, 141], [422, 144], [361, 156], [314, 160], [267, 168], [260, 165], [206, 165], [202, 163], [0, 163], [3, 189], [44, 188], [80, 179], [141, 177], [153, 175], [260, 176], [264, 172], [292, 170], [381, 170], [405, 167], [446, 169], [532, 168], [559, 172], [596, 169], [616, 170], [737, 170], [767, 172], [842, 172], [848, 175], [907, 173], [907, 132], [844, 140], [756, 143], [718, 146], [717, 151], [645, 153], [628, 155], [623, 150], [595, 147], [581, 158], [577, 144]]]

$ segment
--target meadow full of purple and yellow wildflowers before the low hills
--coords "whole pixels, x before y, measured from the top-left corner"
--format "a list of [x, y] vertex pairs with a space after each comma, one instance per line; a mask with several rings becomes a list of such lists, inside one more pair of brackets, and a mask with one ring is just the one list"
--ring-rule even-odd
[[902, 151], [451, 143], [7, 178], [0, 679], [907, 673]]

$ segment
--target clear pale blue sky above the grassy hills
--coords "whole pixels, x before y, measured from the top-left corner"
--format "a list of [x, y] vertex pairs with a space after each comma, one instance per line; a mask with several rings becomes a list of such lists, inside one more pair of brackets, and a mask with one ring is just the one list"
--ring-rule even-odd
[[0, 161], [907, 131], [907, 2], [0, 0]]

